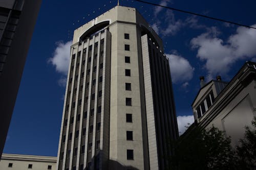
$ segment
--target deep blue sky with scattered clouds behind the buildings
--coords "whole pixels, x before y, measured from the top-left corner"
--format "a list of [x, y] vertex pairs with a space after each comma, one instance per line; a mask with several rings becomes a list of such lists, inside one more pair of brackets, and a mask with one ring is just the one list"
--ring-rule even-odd
[[[149, 0], [148, 0], [149, 1]], [[65, 78], [73, 31], [117, 1], [45, 0], [37, 18], [4, 153], [57, 156]], [[255, 1], [149, 2], [256, 27]], [[131, 0], [163, 40], [170, 59], [180, 131], [193, 121], [191, 103], [206, 80], [229, 81], [245, 61], [256, 61], [256, 30]]]

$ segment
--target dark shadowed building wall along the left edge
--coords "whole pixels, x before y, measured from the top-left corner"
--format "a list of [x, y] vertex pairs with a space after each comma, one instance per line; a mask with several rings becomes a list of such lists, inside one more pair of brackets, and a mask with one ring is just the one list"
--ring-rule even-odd
[[0, 157], [41, 0], [0, 0]]

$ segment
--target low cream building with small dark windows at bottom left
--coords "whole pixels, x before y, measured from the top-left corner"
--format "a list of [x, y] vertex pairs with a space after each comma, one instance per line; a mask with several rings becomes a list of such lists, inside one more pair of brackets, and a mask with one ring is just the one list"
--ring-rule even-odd
[[57, 157], [3, 154], [0, 161], [1, 170], [45, 170], [56, 169]]

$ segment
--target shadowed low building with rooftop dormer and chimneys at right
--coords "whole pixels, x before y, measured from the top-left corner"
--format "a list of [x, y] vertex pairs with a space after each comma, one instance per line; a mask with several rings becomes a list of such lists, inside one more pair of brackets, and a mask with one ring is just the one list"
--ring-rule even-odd
[[256, 116], [256, 63], [246, 62], [229, 83], [220, 76], [207, 84], [203, 77], [200, 80], [201, 89], [191, 105], [195, 124], [205, 129], [215, 126], [231, 137], [232, 146], [237, 145]]

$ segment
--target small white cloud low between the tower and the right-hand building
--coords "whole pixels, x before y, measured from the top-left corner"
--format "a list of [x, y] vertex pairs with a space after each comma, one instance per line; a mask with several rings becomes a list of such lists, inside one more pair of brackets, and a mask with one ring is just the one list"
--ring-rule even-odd
[[186, 131], [187, 127], [189, 127], [191, 124], [195, 122], [195, 119], [193, 115], [178, 116], [177, 122], [178, 122], [179, 134], [182, 135]]

